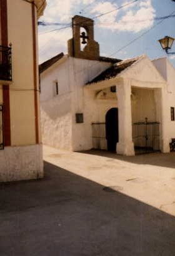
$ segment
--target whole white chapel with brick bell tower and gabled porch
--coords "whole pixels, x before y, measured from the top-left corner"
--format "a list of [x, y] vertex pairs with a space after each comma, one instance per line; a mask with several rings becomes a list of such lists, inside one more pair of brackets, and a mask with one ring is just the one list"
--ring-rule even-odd
[[127, 156], [169, 152], [175, 70], [166, 58], [100, 56], [93, 20], [74, 16], [68, 55], [59, 53], [39, 70], [44, 144]]

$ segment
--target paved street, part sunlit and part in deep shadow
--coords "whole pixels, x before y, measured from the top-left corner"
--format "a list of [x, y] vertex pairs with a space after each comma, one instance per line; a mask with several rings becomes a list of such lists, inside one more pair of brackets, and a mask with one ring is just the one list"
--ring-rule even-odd
[[175, 255], [174, 153], [44, 161], [44, 179], [0, 185], [1, 256]]

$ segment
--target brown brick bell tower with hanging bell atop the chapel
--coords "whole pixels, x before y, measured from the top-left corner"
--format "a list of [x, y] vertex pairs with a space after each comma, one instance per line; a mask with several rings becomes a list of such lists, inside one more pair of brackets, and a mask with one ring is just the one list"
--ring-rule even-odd
[[94, 41], [93, 19], [76, 15], [73, 17], [72, 26], [73, 38], [68, 41], [69, 56], [99, 60], [99, 44]]

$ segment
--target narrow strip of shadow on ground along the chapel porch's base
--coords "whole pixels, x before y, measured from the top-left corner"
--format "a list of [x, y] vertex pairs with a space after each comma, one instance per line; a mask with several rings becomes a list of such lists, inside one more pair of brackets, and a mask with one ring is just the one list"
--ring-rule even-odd
[[155, 152], [150, 154], [139, 154], [136, 156], [121, 156], [119, 154], [116, 154], [116, 152], [109, 152], [99, 149], [91, 149], [78, 152], [82, 154], [92, 154], [96, 156], [109, 157], [111, 159], [118, 159], [134, 164], [150, 164], [153, 166], [175, 168], [175, 152], [166, 154], [161, 152]]

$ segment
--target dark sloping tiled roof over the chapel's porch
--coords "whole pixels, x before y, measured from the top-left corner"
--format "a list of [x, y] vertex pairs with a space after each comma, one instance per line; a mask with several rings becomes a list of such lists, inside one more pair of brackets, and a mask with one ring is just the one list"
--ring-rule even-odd
[[139, 58], [141, 58], [141, 56], [129, 60], [123, 60], [118, 63], [114, 63], [112, 67], [102, 72], [100, 75], [98, 75], [98, 77], [95, 77], [93, 80], [91, 80], [91, 82], [88, 82], [87, 84], [98, 83], [100, 81], [109, 80], [110, 78], [116, 77], [123, 70], [133, 65], [133, 63], [139, 60]]

